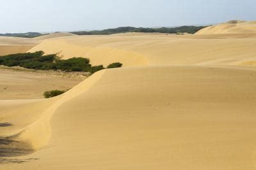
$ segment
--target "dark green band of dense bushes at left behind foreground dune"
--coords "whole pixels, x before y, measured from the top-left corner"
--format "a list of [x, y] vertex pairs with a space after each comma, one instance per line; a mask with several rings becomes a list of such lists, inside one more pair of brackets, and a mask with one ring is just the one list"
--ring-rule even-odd
[[[95, 73], [104, 66], [92, 66], [90, 59], [82, 57], [73, 57], [67, 60], [61, 60], [56, 54], [44, 55], [44, 52], [34, 53], [15, 53], [11, 55], [0, 56], [0, 65], [3, 66], [20, 66], [28, 69], [40, 70], [61, 70], [61, 71], [84, 71]], [[109, 64], [108, 68], [122, 67], [120, 62]]]

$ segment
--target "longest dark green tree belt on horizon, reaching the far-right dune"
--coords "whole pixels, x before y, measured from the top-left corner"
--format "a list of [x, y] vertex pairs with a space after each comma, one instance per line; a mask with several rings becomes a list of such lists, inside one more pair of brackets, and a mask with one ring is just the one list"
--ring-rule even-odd
[[118, 27], [115, 29], [104, 29], [102, 31], [77, 31], [70, 32], [77, 35], [109, 35], [125, 32], [161, 32], [167, 34], [177, 33], [189, 33], [195, 34], [195, 32], [204, 29], [207, 26], [181, 26], [181, 27], [161, 27], [161, 28], [143, 28], [143, 27]]

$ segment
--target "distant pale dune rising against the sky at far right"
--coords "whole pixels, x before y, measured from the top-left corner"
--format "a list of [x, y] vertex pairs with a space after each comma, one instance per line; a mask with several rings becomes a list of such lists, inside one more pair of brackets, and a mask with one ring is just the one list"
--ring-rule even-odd
[[196, 34], [256, 34], [256, 22], [232, 20], [202, 29]]

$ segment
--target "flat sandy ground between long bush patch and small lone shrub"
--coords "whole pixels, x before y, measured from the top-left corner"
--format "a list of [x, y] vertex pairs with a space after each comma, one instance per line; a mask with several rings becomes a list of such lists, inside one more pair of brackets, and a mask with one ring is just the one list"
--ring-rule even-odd
[[41, 99], [47, 90], [67, 90], [81, 81], [82, 78], [0, 68], [0, 99]]

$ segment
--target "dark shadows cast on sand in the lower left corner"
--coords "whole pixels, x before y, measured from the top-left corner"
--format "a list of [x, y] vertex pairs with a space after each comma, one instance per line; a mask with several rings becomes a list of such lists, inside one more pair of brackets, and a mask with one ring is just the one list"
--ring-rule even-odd
[[[12, 126], [9, 123], [1, 123], [1, 127]], [[11, 137], [1, 137], [0, 136], [0, 164], [21, 164], [24, 162], [29, 162], [38, 159], [17, 159], [14, 157], [19, 157], [22, 155], [29, 155], [34, 151], [27, 143], [16, 141], [15, 139], [19, 137], [19, 134]]]

